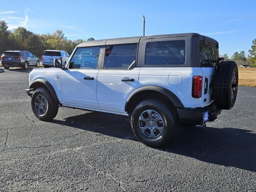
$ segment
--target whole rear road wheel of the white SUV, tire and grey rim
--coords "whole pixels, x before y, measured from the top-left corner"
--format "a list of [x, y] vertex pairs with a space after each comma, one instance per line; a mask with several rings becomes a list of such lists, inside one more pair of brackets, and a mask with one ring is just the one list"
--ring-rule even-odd
[[176, 112], [159, 100], [144, 100], [131, 115], [132, 130], [138, 140], [147, 146], [168, 144], [178, 125]]

